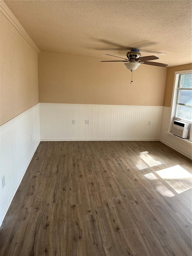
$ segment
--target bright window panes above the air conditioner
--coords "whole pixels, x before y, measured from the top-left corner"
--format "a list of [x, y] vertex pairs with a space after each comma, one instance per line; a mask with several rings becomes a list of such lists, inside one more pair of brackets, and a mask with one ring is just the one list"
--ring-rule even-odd
[[192, 73], [179, 74], [175, 117], [192, 121]]

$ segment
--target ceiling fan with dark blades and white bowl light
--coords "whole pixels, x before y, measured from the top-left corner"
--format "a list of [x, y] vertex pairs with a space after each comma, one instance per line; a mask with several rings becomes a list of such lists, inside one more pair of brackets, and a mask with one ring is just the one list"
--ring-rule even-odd
[[[106, 54], [109, 56], [117, 57], [124, 59], [122, 57]], [[152, 65], [152, 66], [159, 66], [159, 67], [167, 67], [168, 64], [159, 63], [159, 62], [151, 62], [149, 60], [159, 59], [158, 57], [152, 56], [144, 56], [141, 57], [140, 50], [137, 48], [132, 48], [130, 52], [127, 53], [127, 58], [124, 60], [103, 60], [101, 62], [126, 62], [125, 66], [131, 70], [131, 72], [139, 67], [140, 64]]]

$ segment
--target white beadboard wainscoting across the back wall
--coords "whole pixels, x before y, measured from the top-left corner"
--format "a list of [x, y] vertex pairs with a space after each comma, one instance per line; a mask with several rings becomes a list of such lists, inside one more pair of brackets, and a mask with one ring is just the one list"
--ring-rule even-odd
[[159, 140], [162, 111], [162, 106], [40, 103], [41, 140]]

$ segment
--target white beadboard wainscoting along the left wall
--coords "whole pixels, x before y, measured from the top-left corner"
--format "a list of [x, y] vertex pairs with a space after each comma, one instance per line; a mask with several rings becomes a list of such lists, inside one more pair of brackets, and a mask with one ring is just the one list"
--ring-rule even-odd
[[40, 142], [39, 104], [1, 125], [0, 137], [0, 220], [3, 220]]

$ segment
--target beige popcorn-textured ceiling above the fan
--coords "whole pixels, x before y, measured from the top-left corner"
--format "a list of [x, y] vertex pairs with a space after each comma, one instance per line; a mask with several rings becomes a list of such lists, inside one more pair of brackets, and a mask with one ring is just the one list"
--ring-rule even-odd
[[118, 60], [105, 53], [125, 57], [123, 45], [169, 66], [191, 62], [191, 1], [4, 2], [41, 51]]

